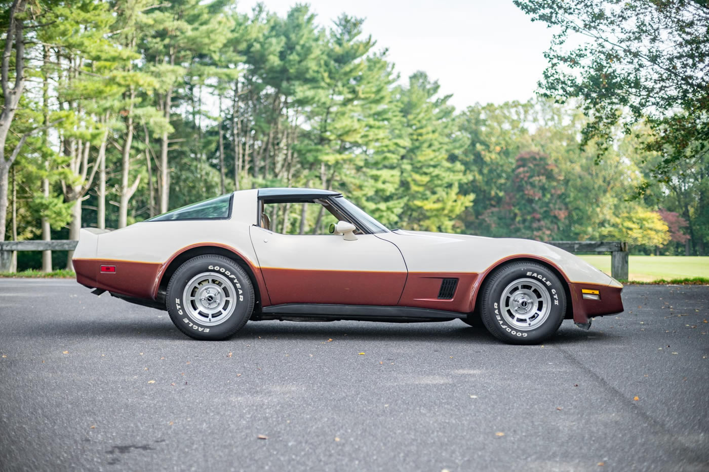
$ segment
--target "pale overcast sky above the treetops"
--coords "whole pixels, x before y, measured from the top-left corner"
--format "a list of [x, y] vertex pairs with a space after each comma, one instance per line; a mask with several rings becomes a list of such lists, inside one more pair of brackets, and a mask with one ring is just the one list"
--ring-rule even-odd
[[[255, 0], [242, 0], [250, 12]], [[269, 11], [284, 16], [294, 0], [265, 0]], [[366, 18], [364, 33], [402, 78], [423, 70], [437, 79], [451, 103], [465, 108], [476, 102], [530, 99], [546, 67], [544, 52], [551, 30], [532, 23], [511, 0], [312, 0], [320, 25], [347, 13]]]

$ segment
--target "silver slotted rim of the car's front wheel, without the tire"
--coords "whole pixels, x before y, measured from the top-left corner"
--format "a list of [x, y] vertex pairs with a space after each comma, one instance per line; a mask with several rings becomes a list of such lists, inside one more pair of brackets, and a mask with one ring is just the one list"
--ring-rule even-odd
[[534, 330], [542, 325], [552, 310], [549, 291], [535, 279], [518, 279], [502, 291], [501, 315], [516, 330]]

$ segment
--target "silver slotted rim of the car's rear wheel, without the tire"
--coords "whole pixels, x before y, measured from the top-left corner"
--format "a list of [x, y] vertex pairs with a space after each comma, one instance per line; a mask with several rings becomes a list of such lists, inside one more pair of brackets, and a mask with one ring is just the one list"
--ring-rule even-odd
[[182, 300], [189, 318], [208, 326], [228, 320], [236, 307], [232, 283], [214, 272], [203, 272], [187, 282]]

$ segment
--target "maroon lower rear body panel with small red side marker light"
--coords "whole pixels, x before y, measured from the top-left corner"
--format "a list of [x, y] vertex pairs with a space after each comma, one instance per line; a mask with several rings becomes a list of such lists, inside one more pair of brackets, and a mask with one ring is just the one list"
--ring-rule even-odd
[[[103, 288], [121, 295], [152, 299], [152, 288], [157, 281], [160, 262], [113, 261], [106, 259], [74, 259], [77, 282]], [[101, 266], [115, 267], [102, 272]]]

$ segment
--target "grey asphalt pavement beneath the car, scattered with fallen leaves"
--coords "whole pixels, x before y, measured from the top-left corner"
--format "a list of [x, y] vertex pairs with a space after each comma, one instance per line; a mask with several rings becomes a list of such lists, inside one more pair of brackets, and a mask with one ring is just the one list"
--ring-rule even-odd
[[707, 471], [709, 287], [541, 346], [440, 323], [199, 342], [74, 281], [0, 279], [0, 470]]

